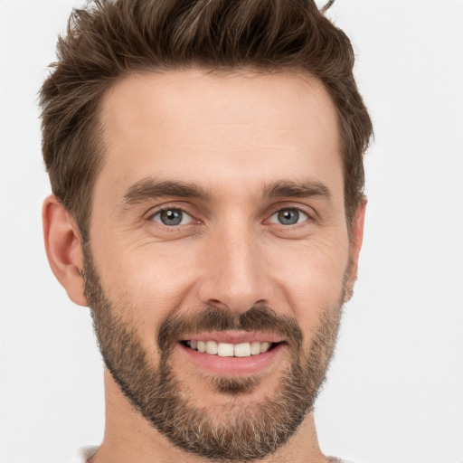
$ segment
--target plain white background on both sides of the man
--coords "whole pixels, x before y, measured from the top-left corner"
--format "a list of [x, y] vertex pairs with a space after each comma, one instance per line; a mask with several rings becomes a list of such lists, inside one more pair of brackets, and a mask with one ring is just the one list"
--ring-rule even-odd
[[[0, 0], [0, 461], [65, 463], [98, 444], [89, 310], [43, 251], [36, 93], [76, 0]], [[327, 454], [463, 462], [463, 1], [337, 0], [376, 141], [354, 299], [317, 402]]]

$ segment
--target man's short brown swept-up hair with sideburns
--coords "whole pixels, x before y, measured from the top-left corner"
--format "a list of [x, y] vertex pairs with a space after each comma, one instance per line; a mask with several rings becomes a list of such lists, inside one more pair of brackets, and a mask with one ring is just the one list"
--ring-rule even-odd
[[96, 0], [74, 10], [43, 83], [43, 158], [52, 192], [85, 238], [102, 165], [99, 102], [133, 72], [303, 71], [335, 103], [349, 230], [364, 197], [372, 122], [354, 76], [352, 45], [313, 0]]

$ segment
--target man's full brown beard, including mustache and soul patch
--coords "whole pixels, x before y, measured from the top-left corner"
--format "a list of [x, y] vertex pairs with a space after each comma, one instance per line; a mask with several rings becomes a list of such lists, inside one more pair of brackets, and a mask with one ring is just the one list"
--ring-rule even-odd
[[[135, 307], [109, 300], [89, 243], [83, 254], [85, 294], [104, 363], [128, 402], [175, 446], [212, 461], [250, 461], [275, 453], [298, 430], [325, 382], [349, 286], [346, 279], [336, 304], [324, 310], [306, 352], [298, 322], [267, 305], [242, 314], [205, 306], [194, 315], [165, 317], [157, 332], [156, 361], [135, 326], [117, 315], [136, 313]], [[271, 396], [240, 404], [241, 397], [258, 390], [262, 378], [211, 376], [213, 391], [230, 401], [213, 410], [194, 405], [192, 388], [175, 377], [174, 347], [183, 335], [224, 330], [259, 331], [285, 339], [290, 360]]]

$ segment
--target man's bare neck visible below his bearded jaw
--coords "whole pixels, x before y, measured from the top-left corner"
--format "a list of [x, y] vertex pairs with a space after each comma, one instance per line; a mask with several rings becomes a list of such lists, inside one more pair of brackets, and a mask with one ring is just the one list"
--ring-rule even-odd
[[[153, 428], [128, 402], [105, 370], [106, 428], [103, 442], [88, 463], [206, 463], [206, 458], [186, 453]], [[297, 432], [273, 455], [260, 463], [327, 463], [318, 446], [313, 412]]]

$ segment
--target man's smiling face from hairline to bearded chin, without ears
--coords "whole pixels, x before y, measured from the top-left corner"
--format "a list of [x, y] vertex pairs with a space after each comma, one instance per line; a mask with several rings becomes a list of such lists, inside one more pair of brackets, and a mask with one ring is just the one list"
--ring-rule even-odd
[[109, 371], [176, 445], [260, 458], [312, 407], [350, 291], [335, 108], [307, 77], [172, 71], [120, 81], [101, 121], [85, 275]]

